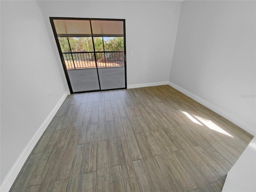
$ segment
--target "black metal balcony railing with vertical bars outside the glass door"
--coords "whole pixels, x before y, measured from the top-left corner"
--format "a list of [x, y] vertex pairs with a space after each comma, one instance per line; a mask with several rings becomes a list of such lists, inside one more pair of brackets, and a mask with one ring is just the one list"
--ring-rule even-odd
[[[64, 52], [62, 54], [67, 69], [96, 68], [94, 52]], [[96, 52], [96, 61], [98, 67], [124, 66], [124, 52]]]

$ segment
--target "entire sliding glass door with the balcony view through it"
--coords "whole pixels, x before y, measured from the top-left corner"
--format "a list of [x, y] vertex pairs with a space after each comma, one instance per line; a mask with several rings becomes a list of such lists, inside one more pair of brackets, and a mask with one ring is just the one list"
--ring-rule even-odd
[[70, 93], [126, 88], [125, 20], [50, 18]]

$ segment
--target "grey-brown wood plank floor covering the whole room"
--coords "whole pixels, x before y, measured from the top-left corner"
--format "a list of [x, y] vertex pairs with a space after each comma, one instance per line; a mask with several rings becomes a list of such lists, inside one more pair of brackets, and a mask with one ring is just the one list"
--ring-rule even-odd
[[220, 192], [253, 136], [174, 88], [69, 95], [11, 192]]

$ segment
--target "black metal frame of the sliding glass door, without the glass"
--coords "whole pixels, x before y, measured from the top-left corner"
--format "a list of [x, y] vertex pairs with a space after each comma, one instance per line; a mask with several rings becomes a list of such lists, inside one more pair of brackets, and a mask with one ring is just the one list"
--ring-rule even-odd
[[[90, 21], [90, 27], [91, 27], [91, 33], [92, 33], [92, 25], [91, 25], [91, 20], [105, 20], [105, 21], [122, 21], [123, 26], [124, 26], [124, 78], [125, 78], [125, 87], [124, 88], [115, 88], [115, 89], [106, 89], [106, 90], [90, 90], [90, 91], [80, 91], [80, 92], [73, 92], [72, 86], [70, 83], [70, 79], [68, 76], [68, 70], [66, 68], [66, 63], [64, 60], [64, 56], [62, 54], [62, 50], [60, 48], [60, 42], [58, 40], [58, 34], [55, 29], [54, 25], [54, 20], [89, 20]], [[58, 47], [58, 52], [60, 54], [60, 60], [62, 62], [62, 67], [66, 76], [66, 80], [68, 82], [68, 88], [70, 90], [70, 94], [75, 94], [75, 93], [85, 93], [85, 92], [96, 92], [96, 91], [107, 91], [107, 90], [118, 90], [118, 89], [127, 89], [127, 78], [126, 78], [126, 34], [125, 34], [125, 19], [103, 19], [103, 18], [73, 18], [73, 17], [50, 17], [50, 23], [52, 26], [52, 31], [54, 34], [54, 38]], [[98, 82], [99, 82], [99, 87], [100, 87], [100, 78], [99, 78], [99, 73], [98, 73], [98, 66], [97, 66], [97, 61], [96, 61], [96, 52], [95, 52], [95, 47], [94, 47], [94, 39], [93, 39], [93, 33], [92, 35], [92, 44], [94, 48], [94, 58], [95, 58], [95, 64], [96, 64], [96, 69], [97, 69], [97, 75], [98, 75]]]

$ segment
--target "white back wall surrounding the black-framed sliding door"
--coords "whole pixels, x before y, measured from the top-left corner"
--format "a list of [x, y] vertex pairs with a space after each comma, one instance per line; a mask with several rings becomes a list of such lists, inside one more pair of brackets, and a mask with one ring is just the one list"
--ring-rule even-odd
[[[181, 2], [40, 1], [39, 4], [52, 42], [49, 17], [126, 19], [128, 88], [136, 84], [168, 83]], [[56, 45], [54, 53], [58, 55]]]

